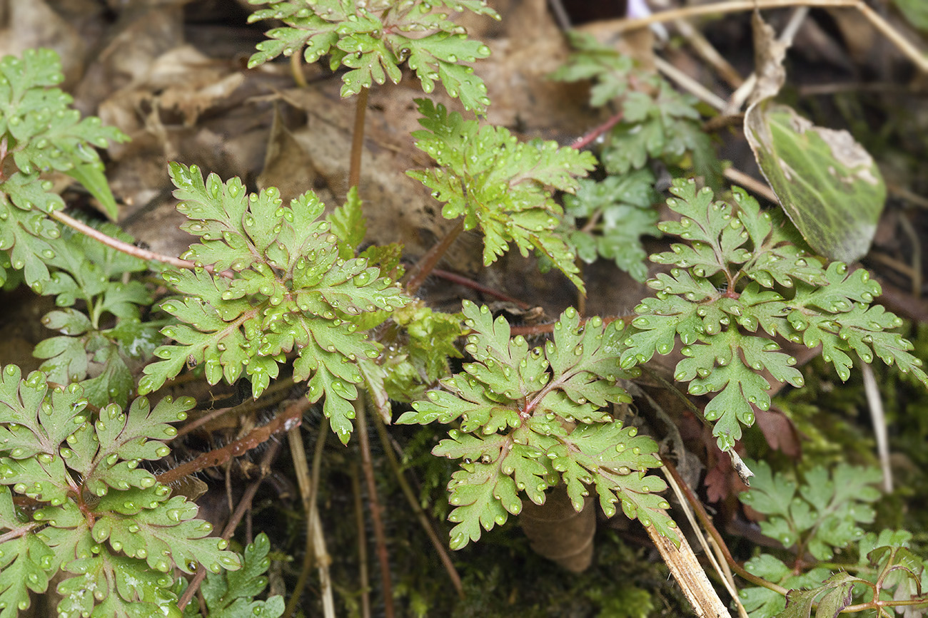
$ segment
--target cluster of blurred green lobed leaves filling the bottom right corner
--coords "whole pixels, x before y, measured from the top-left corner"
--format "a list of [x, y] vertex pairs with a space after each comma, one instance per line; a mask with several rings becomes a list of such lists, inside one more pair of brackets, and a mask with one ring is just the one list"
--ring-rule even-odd
[[784, 474], [771, 473], [764, 461], [749, 466], [752, 486], [740, 499], [767, 515], [761, 522], [765, 535], [779, 540], [800, 563], [806, 552], [820, 561], [831, 560], [832, 548], [853, 556], [848, 549], [854, 545], [859, 556], [857, 564], [847, 563], [853, 575], [834, 573], [833, 567], [797, 572], [769, 554], [751, 559], [745, 564], [749, 572], [790, 590], [784, 598], [765, 587], [743, 588], [741, 602], [751, 618], [808, 618], [813, 602], [818, 603], [818, 616], [834, 616], [852, 603], [922, 596], [925, 563], [907, 549], [911, 535], [883, 530], [879, 536], [864, 536], [857, 525], [873, 521], [868, 503], [880, 498], [873, 487], [881, 479], [878, 470], [842, 463], [828, 473], [817, 467], [797, 486]]

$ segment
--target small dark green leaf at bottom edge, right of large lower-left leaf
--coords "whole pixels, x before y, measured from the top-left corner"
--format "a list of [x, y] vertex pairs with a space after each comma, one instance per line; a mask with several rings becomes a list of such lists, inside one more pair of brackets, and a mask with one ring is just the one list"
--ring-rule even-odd
[[[241, 569], [207, 574], [200, 592], [209, 610], [208, 618], [277, 618], [284, 612], [284, 599], [279, 595], [267, 600], [254, 600], [267, 586], [267, 553], [271, 543], [261, 533], [245, 548]], [[197, 603], [184, 608], [184, 618], [200, 618]]]

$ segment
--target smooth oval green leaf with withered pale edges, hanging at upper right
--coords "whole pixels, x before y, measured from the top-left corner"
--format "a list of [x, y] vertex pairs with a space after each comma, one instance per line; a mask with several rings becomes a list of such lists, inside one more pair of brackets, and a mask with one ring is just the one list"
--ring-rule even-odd
[[865, 256], [883, 212], [886, 185], [850, 133], [817, 127], [793, 108], [767, 101], [748, 109], [744, 133], [809, 246], [848, 263]]

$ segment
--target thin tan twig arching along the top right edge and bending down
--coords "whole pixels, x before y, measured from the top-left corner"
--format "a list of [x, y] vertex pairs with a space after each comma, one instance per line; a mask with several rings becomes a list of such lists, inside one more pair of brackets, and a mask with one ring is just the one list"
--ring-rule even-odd
[[754, 9], [785, 8], [787, 6], [816, 6], [825, 8], [856, 8], [870, 24], [883, 33], [909, 60], [920, 70], [928, 72], [928, 57], [922, 56], [918, 47], [909, 43], [893, 26], [883, 19], [870, 6], [862, 0], [726, 0], [708, 5], [690, 5], [672, 8], [670, 10], [654, 13], [649, 17], [640, 19], [616, 19], [613, 29], [615, 32], [626, 32], [650, 26], [652, 23], [673, 21], [675, 19], [688, 19], [700, 15], [735, 13], [739, 11], [753, 11]]

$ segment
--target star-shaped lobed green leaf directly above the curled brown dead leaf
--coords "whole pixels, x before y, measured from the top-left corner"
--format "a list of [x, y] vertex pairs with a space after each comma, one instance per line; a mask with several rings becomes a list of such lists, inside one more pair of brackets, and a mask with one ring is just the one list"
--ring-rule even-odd
[[535, 504], [562, 481], [580, 511], [596, 486], [609, 516], [621, 500], [629, 518], [654, 524], [676, 539], [667, 503], [655, 492], [666, 485], [646, 475], [660, 465], [657, 445], [602, 410], [630, 401], [615, 384], [623, 376], [614, 349], [621, 334], [594, 318], [581, 328], [574, 309], [561, 314], [553, 341], [529, 350], [522, 336], [509, 337], [509, 322], [484, 306], [464, 303], [474, 362], [441, 381], [426, 400], [413, 403], [397, 423], [459, 423], [433, 455], [462, 460], [448, 489], [457, 507], [450, 520], [451, 547], [459, 549], [522, 511], [523, 493]]

